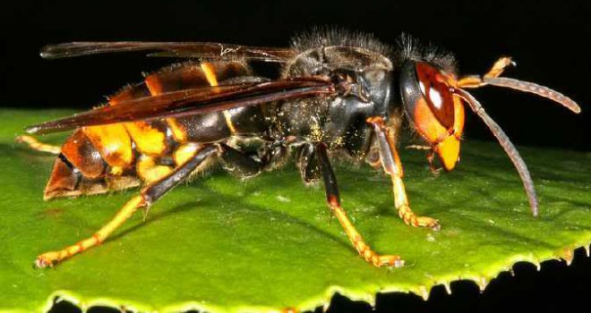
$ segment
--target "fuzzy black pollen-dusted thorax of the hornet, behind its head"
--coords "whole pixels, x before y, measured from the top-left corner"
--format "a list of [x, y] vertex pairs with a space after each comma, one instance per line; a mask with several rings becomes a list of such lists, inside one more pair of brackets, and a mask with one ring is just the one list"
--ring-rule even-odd
[[364, 157], [369, 149], [369, 116], [389, 116], [392, 63], [384, 55], [360, 47], [319, 47], [287, 63], [283, 78], [325, 75], [350, 89], [337, 97], [304, 98], [278, 104], [276, 119], [282, 135], [324, 142], [331, 150]]

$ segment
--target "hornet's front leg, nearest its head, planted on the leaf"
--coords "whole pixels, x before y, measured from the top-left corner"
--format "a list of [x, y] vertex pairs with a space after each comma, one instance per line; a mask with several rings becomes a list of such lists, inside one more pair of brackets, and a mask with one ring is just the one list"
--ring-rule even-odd
[[367, 123], [373, 126], [373, 131], [378, 140], [380, 148], [381, 165], [384, 172], [390, 175], [392, 179], [392, 188], [394, 190], [394, 205], [398, 210], [398, 215], [409, 225], [430, 227], [439, 230], [440, 225], [436, 219], [427, 216], [416, 216], [410, 209], [407, 199], [407, 191], [402, 182], [402, 164], [398, 157], [398, 151], [394, 144], [394, 136], [390, 129], [386, 128], [381, 117], [370, 117]]

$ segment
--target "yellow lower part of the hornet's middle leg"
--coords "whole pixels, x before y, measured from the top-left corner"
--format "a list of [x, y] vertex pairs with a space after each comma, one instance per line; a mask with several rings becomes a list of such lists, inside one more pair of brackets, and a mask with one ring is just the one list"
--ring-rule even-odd
[[355, 226], [351, 223], [343, 207], [338, 204], [338, 199], [332, 198], [329, 200], [329, 206], [332, 213], [337, 216], [338, 222], [343, 226], [347, 237], [353, 243], [353, 247], [359, 255], [364, 258], [367, 262], [372, 263], [374, 266], [404, 266], [404, 260], [397, 255], [379, 255], [373, 251], [364, 241]]

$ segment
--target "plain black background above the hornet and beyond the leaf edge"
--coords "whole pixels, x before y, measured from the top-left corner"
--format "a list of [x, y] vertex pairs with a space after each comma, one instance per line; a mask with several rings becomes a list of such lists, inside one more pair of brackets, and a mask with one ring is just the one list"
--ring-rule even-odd
[[[508, 76], [535, 81], [578, 101], [571, 114], [549, 100], [506, 89], [475, 91], [486, 110], [517, 145], [591, 150], [591, 10], [586, 1], [11, 1], [0, 8], [0, 106], [88, 109], [128, 82], [141, 80], [169, 59], [138, 54], [97, 55], [47, 61], [39, 48], [65, 41], [219, 41], [286, 46], [313, 25], [340, 25], [394, 44], [401, 32], [454, 52], [463, 73], [484, 73], [501, 55], [518, 67]], [[466, 135], [492, 140], [468, 114]], [[480, 294], [473, 283], [452, 283], [453, 295], [435, 288], [432, 300], [380, 295], [377, 310], [500, 311], [524, 307], [562, 311], [583, 306], [591, 293], [591, 262], [578, 253], [575, 266], [558, 262], [517, 266]], [[364, 304], [333, 300], [333, 311], [369, 311]], [[64, 309], [64, 307], [60, 307]], [[585, 309], [583, 309], [585, 310]]]

